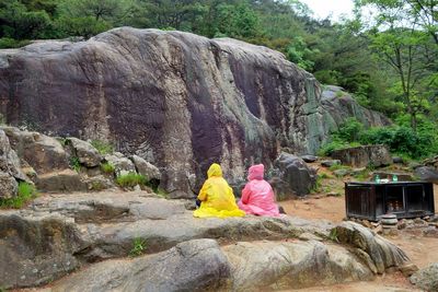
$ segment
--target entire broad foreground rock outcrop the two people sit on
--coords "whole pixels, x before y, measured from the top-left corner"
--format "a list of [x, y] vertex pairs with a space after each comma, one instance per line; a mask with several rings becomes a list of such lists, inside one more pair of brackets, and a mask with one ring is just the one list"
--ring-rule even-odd
[[[287, 215], [200, 220], [182, 201], [145, 191], [45, 196], [27, 209], [0, 211], [0, 283], [5, 289], [34, 287], [92, 265], [51, 287], [252, 291], [367, 280], [408, 261], [390, 242], [358, 224], [334, 227]], [[353, 246], [330, 241], [333, 230]], [[192, 241], [197, 238], [226, 246]], [[148, 254], [166, 252], [94, 265], [128, 256], [137, 240]]]

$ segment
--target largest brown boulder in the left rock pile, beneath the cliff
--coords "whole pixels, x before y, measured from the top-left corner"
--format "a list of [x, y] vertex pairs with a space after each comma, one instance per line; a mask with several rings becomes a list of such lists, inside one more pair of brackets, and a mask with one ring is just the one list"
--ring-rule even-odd
[[66, 151], [55, 138], [14, 127], [2, 129], [21, 162], [28, 163], [38, 175], [69, 168]]

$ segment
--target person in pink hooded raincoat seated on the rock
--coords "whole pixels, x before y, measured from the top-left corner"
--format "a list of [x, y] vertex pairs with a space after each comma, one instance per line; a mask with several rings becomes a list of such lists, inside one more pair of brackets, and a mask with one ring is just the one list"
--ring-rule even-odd
[[242, 190], [242, 198], [238, 202], [246, 214], [278, 217], [278, 206], [275, 203], [274, 190], [269, 183], [263, 179], [265, 166], [253, 165], [249, 170], [249, 183]]

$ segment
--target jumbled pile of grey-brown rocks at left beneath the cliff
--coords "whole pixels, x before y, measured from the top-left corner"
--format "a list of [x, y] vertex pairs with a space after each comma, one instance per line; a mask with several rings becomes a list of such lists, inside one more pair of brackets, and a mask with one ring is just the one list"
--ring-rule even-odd
[[[111, 165], [110, 171], [103, 164]], [[12, 198], [18, 182], [41, 191], [88, 191], [115, 187], [114, 179], [129, 172], [160, 182], [160, 171], [140, 156], [119, 152], [102, 155], [90, 142], [48, 137], [15, 127], [0, 127], [0, 198]]]

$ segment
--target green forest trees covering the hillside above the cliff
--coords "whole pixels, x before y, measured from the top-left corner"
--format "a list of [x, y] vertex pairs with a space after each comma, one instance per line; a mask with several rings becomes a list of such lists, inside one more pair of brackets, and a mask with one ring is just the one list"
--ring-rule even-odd
[[0, 48], [117, 26], [239, 38], [284, 52], [414, 135], [437, 137], [438, 0], [355, 0], [355, 14], [316, 20], [299, 0], [0, 0]]

